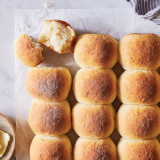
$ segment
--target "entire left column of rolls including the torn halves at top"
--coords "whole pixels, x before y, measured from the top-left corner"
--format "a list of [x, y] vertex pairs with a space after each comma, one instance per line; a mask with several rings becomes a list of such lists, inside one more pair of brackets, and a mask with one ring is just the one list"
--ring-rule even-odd
[[[14, 42], [14, 53], [27, 67], [36, 67], [44, 60], [44, 46], [59, 54], [72, 53], [75, 36], [74, 29], [67, 22], [45, 20], [38, 42], [22, 34]], [[71, 109], [65, 100], [71, 81], [66, 68], [30, 69], [26, 88], [34, 102], [28, 123], [36, 134], [30, 147], [31, 160], [72, 160], [70, 140], [63, 135], [71, 128]]]

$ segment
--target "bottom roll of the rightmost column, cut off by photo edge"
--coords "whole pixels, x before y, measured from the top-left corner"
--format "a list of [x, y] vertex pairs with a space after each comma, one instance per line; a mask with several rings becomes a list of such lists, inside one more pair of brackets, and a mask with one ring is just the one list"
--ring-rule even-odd
[[160, 160], [160, 143], [157, 139], [127, 140], [117, 146], [119, 160]]

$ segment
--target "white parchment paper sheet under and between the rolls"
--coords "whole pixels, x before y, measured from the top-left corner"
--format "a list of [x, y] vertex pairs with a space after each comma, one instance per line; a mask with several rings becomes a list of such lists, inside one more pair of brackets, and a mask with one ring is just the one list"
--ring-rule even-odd
[[[45, 19], [61, 19], [72, 25], [77, 37], [83, 33], [110, 34], [119, 40], [128, 33], [156, 33], [160, 35], [160, 27], [153, 22], [142, 20], [130, 9], [107, 9], [107, 10], [17, 10], [15, 13], [15, 37], [22, 33], [27, 33], [35, 40], [37, 39]], [[76, 65], [73, 54], [58, 55], [47, 48], [44, 48], [44, 62], [40, 66], [65, 66], [72, 76], [75, 75], [79, 67]], [[29, 160], [29, 146], [34, 136], [28, 126], [28, 111], [32, 103], [32, 97], [25, 88], [25, 77], [29, 68], [23, 66], [16, 59], [16, 80], [15, 80], [15, 100], [16, 100], [16, 131], [17, 160]], [[117, 63], [113, 68], [117, 77], [123, 72]], [[76, 103], [71, 92], [68, 100], [71, 107]], [[120, 106], [116, 99], [113, 103], [116, 110]], [[71, 129], [67, 133], [74, 145], [77, 135]], [[117, 144], [120, 136], [115, 130], [112, 139]]]

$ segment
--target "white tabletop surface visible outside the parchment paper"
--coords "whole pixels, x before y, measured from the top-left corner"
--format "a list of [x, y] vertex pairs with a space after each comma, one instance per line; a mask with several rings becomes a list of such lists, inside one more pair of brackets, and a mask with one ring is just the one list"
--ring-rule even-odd
[[14, 104], [15, 57], [13, 54], [14, 10], [42, 9], [45, 3], [52, 3], [52, 8], [61, 9], [131, 7], [126, 0], [0, 0], [0, 112], [7, 115], [14, 124], [16, 121]]

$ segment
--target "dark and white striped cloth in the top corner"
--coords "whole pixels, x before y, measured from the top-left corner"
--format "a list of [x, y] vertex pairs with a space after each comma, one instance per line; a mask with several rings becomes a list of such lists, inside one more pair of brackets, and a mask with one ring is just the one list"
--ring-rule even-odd
[[127, 0], [135, 12], [142, 18], [160, 25], [160, 0]]

